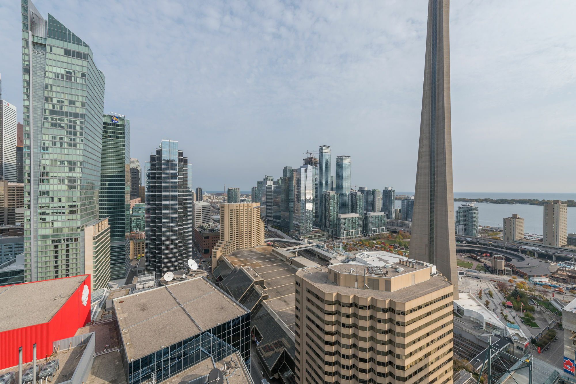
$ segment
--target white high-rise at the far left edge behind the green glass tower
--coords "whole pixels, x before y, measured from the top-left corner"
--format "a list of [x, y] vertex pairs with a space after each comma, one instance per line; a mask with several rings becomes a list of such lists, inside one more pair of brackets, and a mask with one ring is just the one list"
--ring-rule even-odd
[[16, 106], [0, 99], [0, 179], [11, 183], [16, 177]]

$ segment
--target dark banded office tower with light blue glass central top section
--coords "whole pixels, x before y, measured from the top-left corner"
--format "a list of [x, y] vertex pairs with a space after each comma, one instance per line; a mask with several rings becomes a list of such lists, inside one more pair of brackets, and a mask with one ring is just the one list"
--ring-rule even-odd
[[180, 270], [192, 251], [191, 164], [178, 141], [162, 139], [145, 169], [146, 272], [160, 278]]

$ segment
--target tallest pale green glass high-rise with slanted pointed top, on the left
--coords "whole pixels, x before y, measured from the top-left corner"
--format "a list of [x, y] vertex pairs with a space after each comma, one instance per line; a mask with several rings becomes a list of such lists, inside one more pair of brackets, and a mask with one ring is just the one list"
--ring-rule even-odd
[[98, 218], [105, 79], [71, 30], [30, 0], [21, 10], [29, 282], [84, 273], [82, 227]]

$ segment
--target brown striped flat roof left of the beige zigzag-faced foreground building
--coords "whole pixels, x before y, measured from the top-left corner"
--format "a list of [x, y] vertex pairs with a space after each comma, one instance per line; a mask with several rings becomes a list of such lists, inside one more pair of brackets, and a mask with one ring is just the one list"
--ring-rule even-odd
[[284, 260], [272, 255], [272, 249], [274, 248], [268, 245], [238, 249], [224, 257], [233, 266], [252, 267], [264, 278], [264, 290], [270, 295], [270, 298], [266, 299], [266, 303], [290, 328], [290, 331], [294, 332], [296, 322], [294, 309], [295, 275], [297, 270], [286, 264]]

